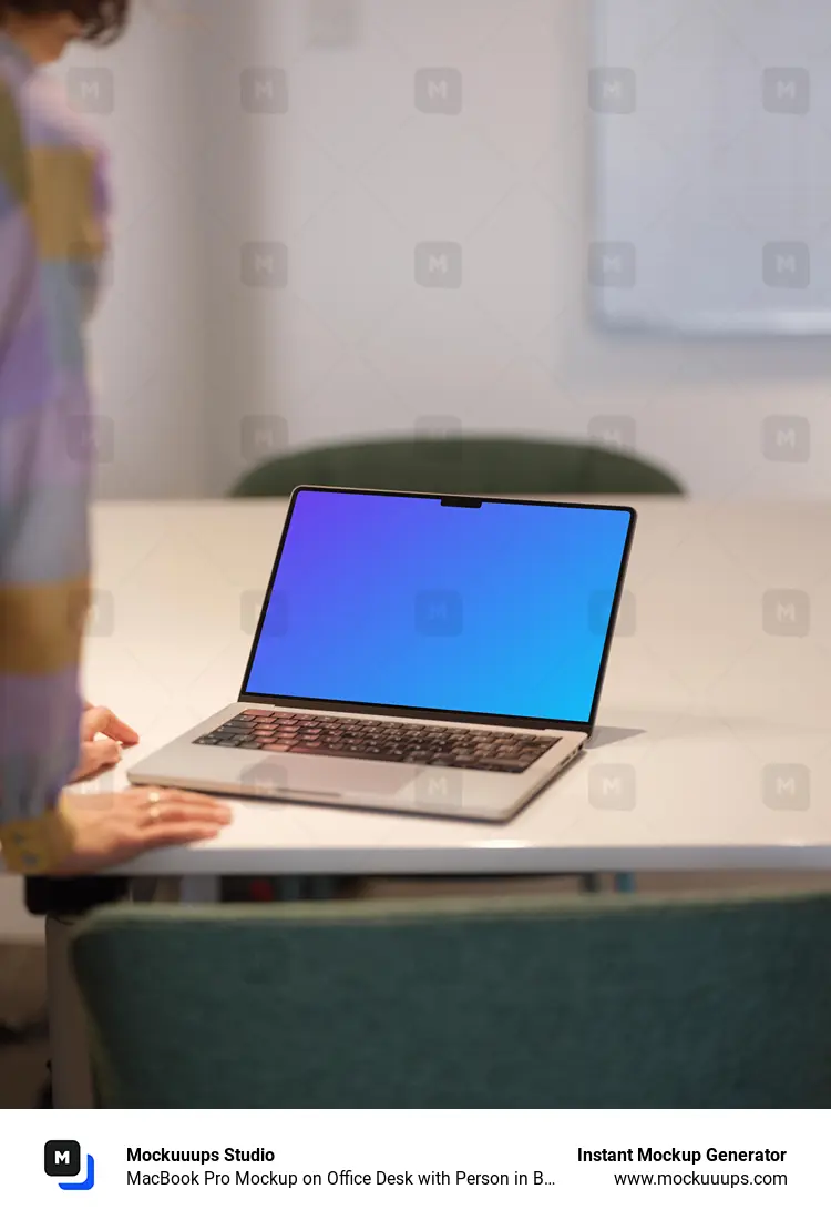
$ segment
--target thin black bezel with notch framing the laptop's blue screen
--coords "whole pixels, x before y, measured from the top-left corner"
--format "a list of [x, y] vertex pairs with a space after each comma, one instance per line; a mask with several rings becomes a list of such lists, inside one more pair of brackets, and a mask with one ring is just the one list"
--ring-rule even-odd
[[[618, 575], [618, 586], [614, 590], [614, 599], [612, 603], [612, 614], [609, 615], [609, 625], [606, 633], [606, 639], [603, 640], [603, 653], [601, 655], [601, 665], [597, 672], [597, 681], [595, 683], [595, 694], [591, 705], [591, 714], [586, 721], [575, 720], [548, 720], [536, 716], [502, 716], [492, 712], [468, 712], [468, 711], [447, 711], [446, 709], [435, 708], [405, 708], [397, 704], [369, 704], [369, 703], [344, 703], [339, 699], [305, 699], [295, 695], [280, 695], [280, 694], [261, 694], [251, 693], [246, 691], [249, 677], [253, 666], [255, 656], [257, 655], [257, 648], [260, 645], [260, 637], [262, 634], [263, 625], [266, 621], [266, 615], [272, 598], [272, 590], [274, 588], [274, 581], [277, 578], [277, 572], [280, 566], [280, 559], [283, 556], [283, 548], [285, 547], [286, 538], [289, 537], [289, 528], [291, 526], [291, 516], [297, 503], [297, 498], [302, 492], [336, 492], [340, 495], [384, 495], [384, 497], [396, 497], [398, 499], [408, 500], [440, 500], [445, 504], [464, 508], [478, 508], [483, 504], [517, 504], [526, 505], [529, 508], [541, 506], [541, 508], [560, 508], [560, 509], [585, 509], [587, 511], [602, 511], [602, 512], [624, 512], [629, 517], [629, 525], [626, 528], [626, 540], [624, 543], [623, 559], [620, 561], [620, 571]], [[280, 537], [280, 544], [277, 549], [277, 555], [274, 558], [274, 564], [272, 565], [272, 572], [268, 580], [268, 588], [266, 590], [266, 597], [263, 598], [262, 609], [260, 611], [260, 620], [257, 622], [257, 630], [253, 636], [253, 642], [251, 644], [251, 650], [249, 653], [249, 660], [245, 666], [245, 675], [242, 677], [242, 684], [239, 694], [239, 703], [250, 703], [253, 705], [263, 706], [280, 706], [297, 709], [301, 711], [330, 711], [330, 712], [347, 712], [361, 716], [391, 716], [397, 720], [435, 720], [435, 721], [447, 721], [458, 723], [463, 720], [465, 723], [470, 725], [498, 725], [509, 728], [541, 728], [541, 730], [558, 730], [560, 732], [584, 732], [591, 734], [595, 722], [597, 719], [597, 710], [599, 706], [601, 694], [603, 691], [603, 682], [606, 680], [606, 669], [608, 665], [609, 651], [612, 648], [612, 639], [614, 637], [614, 627], [618, 621], [618, 614], [620, 610], [620, 601], [623, 599], [624, 584], [626, 580], [626, 571], [629, 567], [629, 558], [632, 548], [632, 538], [635, 534], [635, 526], [637, 523], [637, 512], [629, 505], [623, 504], [585, 504], [582, 501], [569, 501], [569, 500], [535, 500], [524, 499], [519, 497], [500, 497], [500, 495], [442, 495], [439, 492], [387, 492], [375, 488], [366, 487], [325, 487], [323, 484], [301, 484], [296, 487], [291, 493], [289, 500], [289, 509], [285, 517], [285, 523], [283, 526], [283, 534]]]

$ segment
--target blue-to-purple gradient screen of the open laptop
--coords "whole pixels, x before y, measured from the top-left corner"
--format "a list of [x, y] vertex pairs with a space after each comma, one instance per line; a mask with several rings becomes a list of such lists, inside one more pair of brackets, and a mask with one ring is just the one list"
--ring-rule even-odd
[[630, 521], [300, 492], [246, 693], [585, 722]]

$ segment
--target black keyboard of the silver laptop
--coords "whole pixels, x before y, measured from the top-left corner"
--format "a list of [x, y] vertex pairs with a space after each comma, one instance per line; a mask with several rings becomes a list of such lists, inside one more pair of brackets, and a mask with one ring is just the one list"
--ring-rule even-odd
[[195, 744], [519, 773], [557, 741], [531, 733], [483, 732], [452, 725], [407, 725], [390, 720], [347, 720], [263, 708], [239, 712], [199, 737]]

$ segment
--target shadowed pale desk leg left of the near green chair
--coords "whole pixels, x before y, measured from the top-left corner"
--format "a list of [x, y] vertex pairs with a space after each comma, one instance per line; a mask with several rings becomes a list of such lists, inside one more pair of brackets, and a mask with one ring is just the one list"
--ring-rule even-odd
[[87, 1022], [69, 964], [74, 920], [46, 916], [49, 1044], [52, 1060], [52, 1105], [56, 1110], [95, 1108]]

